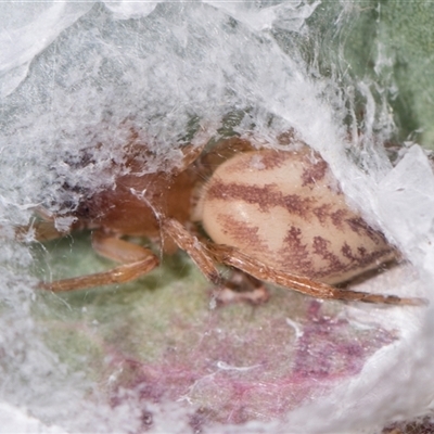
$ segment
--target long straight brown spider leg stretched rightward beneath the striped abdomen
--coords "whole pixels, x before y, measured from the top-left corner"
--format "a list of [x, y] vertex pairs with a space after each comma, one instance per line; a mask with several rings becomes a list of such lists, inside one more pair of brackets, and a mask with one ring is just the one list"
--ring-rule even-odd
[[248, 255], [245, 255], [234, 247], [222, 244], [208, 243], [207, 250], [210, 255], [221, 264], [235, 267], [256, 279], [292, 289], [317, 298], [412, 306], [426, 304], [426, 301], [423, 298], [400, 298], [396, 295], [369, 294], [333, 288], [327, 283], [317, 282], [306, 277], [277, 270]]

